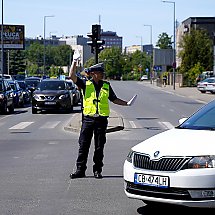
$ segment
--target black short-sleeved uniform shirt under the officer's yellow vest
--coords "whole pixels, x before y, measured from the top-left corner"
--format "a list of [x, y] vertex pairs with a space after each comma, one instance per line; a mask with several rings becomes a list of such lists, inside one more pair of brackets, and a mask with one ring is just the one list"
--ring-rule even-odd
[[[86, 81], [87, 81], [87, 80], [84, 80], [84, 79], [81, 79], [81, 78], [77, 77], [76, 85], [77, 85], [79, 88], [81, 88], [81, 89], [83, 90], [83, 93], [84, 93], [84, 94], [85, 94], [85, 89], [86, 89]], [[97, 84], [97, 83], [95, 83], [93, 80], [91, 80], [91, 81], [92, 81], [93, 84], [94, 84], [94, 87], [95, 87], [95, 90], [96, 90], [96, 96], [97, 96], [97, 98], [98, 98], [98, 96], [99, 96], [99, 92], [100, 92], [100, 90], [101, 90], [101, 87], [103, 86], [103, 83], [105, 82], [105, 83], [109, 84], [109, 97], [108, 97], [108, 99], [109, 99], [111, 102], [113, 102], [115, 99], [117, 99], [117, 96], [116, 96], [116, 94], [114, 93], [113, 88], [111, 87], [111, 85], [110, 85], [109, 82], [100, 80], [100, 81], [98, 82], [98, 84]]]

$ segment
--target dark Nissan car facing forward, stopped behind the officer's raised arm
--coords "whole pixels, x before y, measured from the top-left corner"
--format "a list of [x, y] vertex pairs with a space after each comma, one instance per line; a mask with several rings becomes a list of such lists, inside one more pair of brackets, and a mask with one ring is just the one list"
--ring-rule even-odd
[[65, 80], [44, 79], [33, 92], [32, 114], [41, 110], [73, 110], [73, 95]]

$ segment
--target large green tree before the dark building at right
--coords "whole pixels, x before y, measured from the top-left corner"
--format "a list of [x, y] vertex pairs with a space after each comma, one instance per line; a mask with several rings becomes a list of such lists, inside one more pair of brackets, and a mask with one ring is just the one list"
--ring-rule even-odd
[[190, 72], [192, 68], [204, 68], [204, 70], [213, 70], [213, 41], [210, 39], [206, 30], [191, 29], [189, 34], [185, 34], [179, 44], [181, 51], [179, 57], [181, 58], [180, 73], [183, 74], [184, 83], [193, 85], [193, 81], [201, 74], [195, 72], [195, 77], [191, 79]]

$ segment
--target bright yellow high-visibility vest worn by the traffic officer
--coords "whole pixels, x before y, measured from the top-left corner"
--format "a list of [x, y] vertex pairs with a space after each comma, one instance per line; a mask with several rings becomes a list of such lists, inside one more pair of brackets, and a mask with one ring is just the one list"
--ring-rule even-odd
[[85, 95], [83, 95], [83, 114], [93, 116], [98, 113], [100, 116], [109, 116], [110, 109], [108, 97], [109, 84], [103, 83], [97, 100], [94, 84], [92, 81], [87, 81]]

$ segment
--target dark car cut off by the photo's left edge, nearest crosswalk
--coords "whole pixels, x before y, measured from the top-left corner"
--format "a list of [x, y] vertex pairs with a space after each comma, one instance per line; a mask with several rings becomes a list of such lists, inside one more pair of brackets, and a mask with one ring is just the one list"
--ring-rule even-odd
[[14, 112], [13, 89], [7, 80], [0, 78], [0, 112], [6, 114]]

